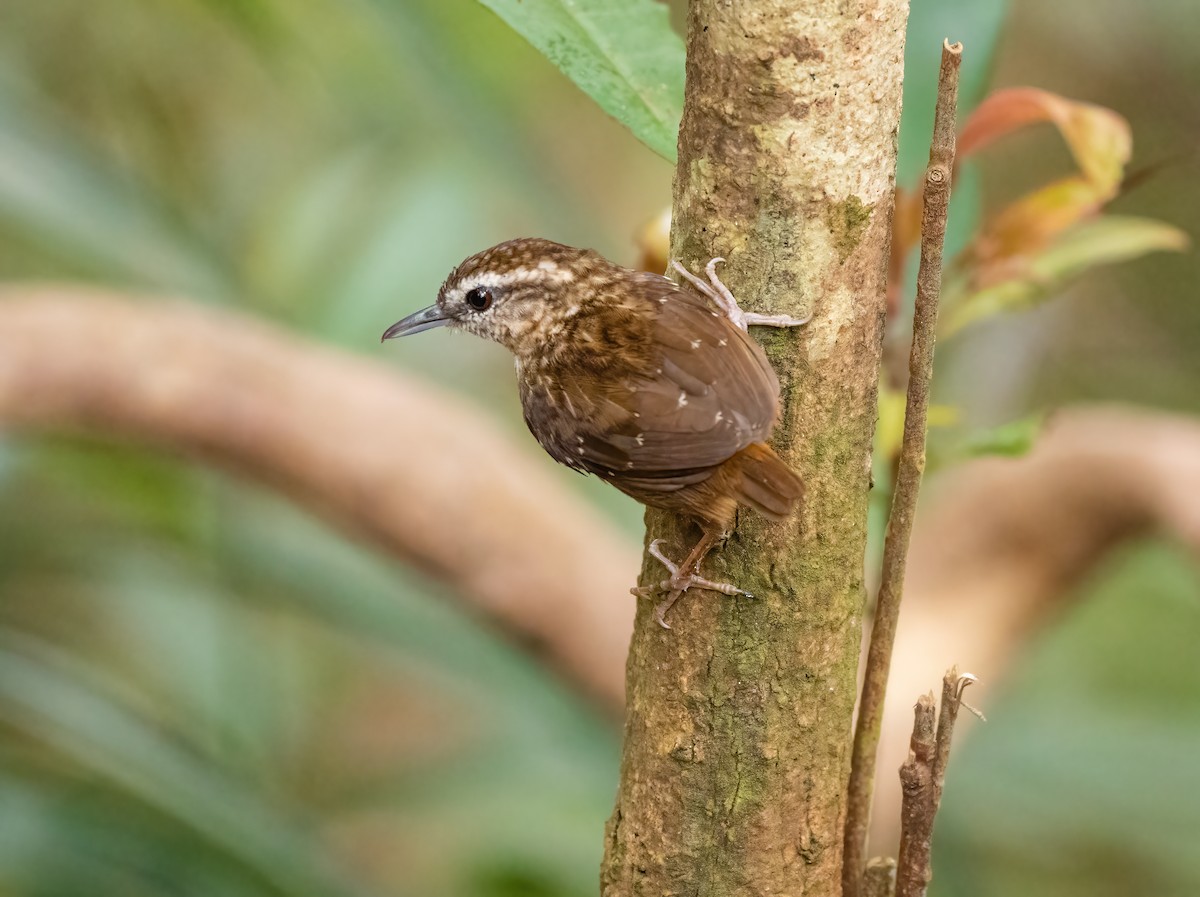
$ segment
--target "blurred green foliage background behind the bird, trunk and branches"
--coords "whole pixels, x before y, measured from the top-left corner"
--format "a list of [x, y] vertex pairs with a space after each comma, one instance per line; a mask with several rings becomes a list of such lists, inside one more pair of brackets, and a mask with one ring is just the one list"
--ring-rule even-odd
[[[1200, 234], [1192, 0], [914, 0], [907, 181], [943, 34], [977, 48], [965, 100], [1032, 84], [1126, 115], [1134, 169], [1192, 153], [1115, 206]], [[958, 239], [1068, 164], [1049, 130], [989, 152]], [[670, 193], [668, 163], [468, 0], [0, 5], [6, 282], [182, 295], [382, 355], [470, 252], [528, 234], [631, 264]], [[979, 423], [1195, 415], [1198, 284], [1194, 253], [1092, 275], [955, 341], [940, 390]], [[523, 429], [503, 350], [391, 349]], [[637, 537], [637, 506], [560, 476]], [[1133, 547], [1031, 645], [955, 759], [936, 893], [1200, 893], [1198, 579]], [[454, 596], [283, 499], [0, 434], [0, 893], [594, 893], [618, 747]]]

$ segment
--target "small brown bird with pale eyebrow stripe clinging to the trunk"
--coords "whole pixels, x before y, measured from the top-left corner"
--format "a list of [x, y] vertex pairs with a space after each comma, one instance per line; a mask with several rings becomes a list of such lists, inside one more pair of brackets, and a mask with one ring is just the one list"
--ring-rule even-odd
[[[384, 339], [450, 326], [516, 359], [526, 423], [556, 460], [607, 480], [644, 505], [691, 517], [703, 531], [670, 572], [660, 624], [688, 589], [749, 595], [700, 576], [738, 506], [782, 520], [803, 483], [766, 444], [779, 380], [746, 326], [804, 320], [743, 312], [716, 277], [672, 263], [697, 291], [548, 240], [510, 240], [456, 267], [436, 305]], [[641, 594], [635, 590], [635, 594]], [[670, 628], [670, 627], [667, 627]]]

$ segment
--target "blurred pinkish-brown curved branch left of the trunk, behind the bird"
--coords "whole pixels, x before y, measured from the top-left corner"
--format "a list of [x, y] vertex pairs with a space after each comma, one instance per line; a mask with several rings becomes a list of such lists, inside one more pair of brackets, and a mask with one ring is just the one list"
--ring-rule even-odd
[[0, 426], [170, 448], [277, 488], [620, 708], [637, 552], [450, 393], [232, 312], [8, 288]]

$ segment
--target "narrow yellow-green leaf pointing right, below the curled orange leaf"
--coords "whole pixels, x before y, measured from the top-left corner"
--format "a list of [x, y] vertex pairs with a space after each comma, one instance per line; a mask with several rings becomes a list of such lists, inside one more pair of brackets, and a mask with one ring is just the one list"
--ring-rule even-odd
[[1018, 276], [974, 293], [964, 293], [962, 284], [952, 287], [940, 336], [952, 336], [1001, 312], [1028, 308], [1051, 297], [1067, 281], [1099, 265], [1128, 261], [1151, 252], [1181, 252], [1187, 246], [1187, 234], [1152, 218], [1105, 215], [1081, 222], [1031, 258]]

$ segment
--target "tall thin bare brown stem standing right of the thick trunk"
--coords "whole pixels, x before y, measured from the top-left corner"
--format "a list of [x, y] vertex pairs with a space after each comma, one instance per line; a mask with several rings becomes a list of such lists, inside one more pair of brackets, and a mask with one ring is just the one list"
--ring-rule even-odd
[[950, 203], [950, 173], [954, 170], [955, 110], [961, 53], [962, 46], [959, 43], [952, 46], [946, 42], [942, 46], [934, 139], [929, 152], [929, 168], [925, 169], [920, 266], [917, 272], [917, 302], [913, 311], [912, 351], [908, 360], [904, 443], [900, 448], [892, 512], [883, 544], [883, 576], [866, 655], [858, 726], [854, 730], [842, 867], [845, 897], [858, 897], [860, 893], [871, 791], [875, 783], [875, 752], [880, 742], [883, 698], [887, 692], [888, 668], [892, 664], [892, 645], [900, 615], [908, 540], [917, 511], [920, 477], [925, 469], [925, 417], [929, 408], [929, 384], [934, 371], [934, 335], [937, 330], [937, 299], [942, 283], [942, 245], [946, 241], [946, 219]]

